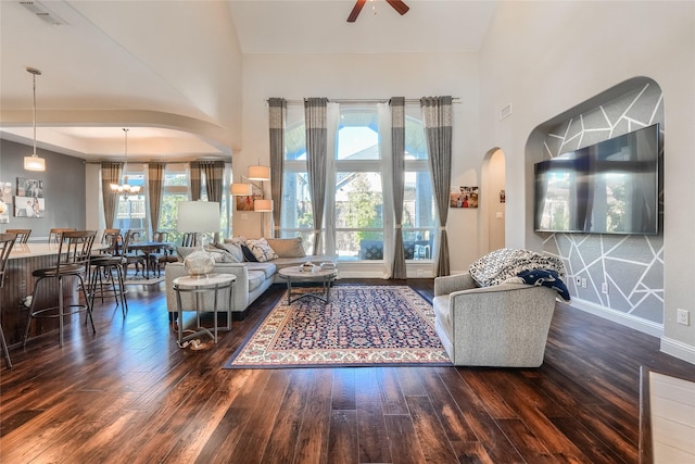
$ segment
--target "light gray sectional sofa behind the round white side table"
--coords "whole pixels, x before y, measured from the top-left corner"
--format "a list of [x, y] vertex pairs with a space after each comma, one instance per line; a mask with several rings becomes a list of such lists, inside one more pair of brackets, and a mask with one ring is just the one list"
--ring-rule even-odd
[[[278, 269], [282, 267], [296, 266], [305, 262], [320, 263], [332, 261], [329, 256], [304, 255], [303, 249], [296, 249], [296, 240], [301, 239], [268, 239], [269, 243], [275, 243], [278, 250], [278, 258], [265, 262], [217, 262], [213, 268], [214, 274], [233, 274], [237, 280], [233, 287], [232, 318], [243, 319], [247, 311], [264, 291], [273, 284], [285, 283], [278, 276]], [[282, 250], [287, 250], [282, 252]], [[302, 254], [302, 255], [300, 255]], [[181, 261], [168, 263], [165, 267], [166, 283], [166, 309], [169, 313], [178, 312], [176, 306], [176, 293], [174, 291], [174, 279], [186, 276], [187, 272]], [[192, 304], [190, 296], [182, 296], [181, 303], [186, 306]], [[205, 308], [212, 308], [212, 299], [203, 301]]]

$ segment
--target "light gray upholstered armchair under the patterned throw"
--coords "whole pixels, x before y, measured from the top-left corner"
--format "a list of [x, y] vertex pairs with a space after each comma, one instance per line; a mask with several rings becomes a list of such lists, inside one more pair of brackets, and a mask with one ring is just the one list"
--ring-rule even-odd
[[525, 284], [478, 287], [468, 273], [438, 277], [435, 330], [454, 365], [539, 367], [556, 297]]

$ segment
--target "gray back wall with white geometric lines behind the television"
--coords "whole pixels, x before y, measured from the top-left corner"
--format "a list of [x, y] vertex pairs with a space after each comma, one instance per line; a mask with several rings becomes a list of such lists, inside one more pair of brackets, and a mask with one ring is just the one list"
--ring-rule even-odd
[[[664, 156], [664, 96], [658, 85], [649, 81], [554, 127], [545, 140], [545, 156], [554, 158], [655, 123], [660, 124], [659, 155]], [[661, 218], [662, 214], [661, 190]], [[548, 234], [543, 248], [565, 262], [572, 298], [664, 324], [662, 234]], [[577, 277], [586, 279], [586, 288], [576, 284]], [[608, 284], [608, 293], [602, 291], [604, 283]]]

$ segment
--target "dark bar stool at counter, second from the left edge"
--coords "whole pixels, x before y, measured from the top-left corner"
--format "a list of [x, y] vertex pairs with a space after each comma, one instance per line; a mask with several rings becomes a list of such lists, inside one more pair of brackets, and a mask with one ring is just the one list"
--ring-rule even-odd
[[[58, 263], [54, 267], [45, 267], [36, 269], [31, 273], [37, 278], [34, 284], [34, 293], [31, 294], [31, 304], [29, 305], [29, 314], [27, 316], [26, 329], [24, 331], [24, 339], [22, 346], [26, 347], [26, 340], [29, 336], [29, 328], [31, 325], [31, 318], [39, 317], [58, 317], [59, 322], [59, 342], [63, 346], [63, 329], [64, 329], [64, 316], [86, 312], [85, 324], [87, 319], [91, 323], [91, 329], [97, 333], [94, 327], [94, 321], [91, 315], [91, 303], [87, 294], [87, 286], [85, 284], [85, 276], [87, 274], [87, 265], [89, 263], [89, 254], [91, 253], [91, 246], [94, 242], [97, 236], [96, 230], [77, 230], [77, 231], [62, 231], [61, 239], [59, 241], [58, 250]], [[77, 302], [76, 304], [65, 305], [63, 301], [63, 279], [65, 277], [76, 277], [79, 280], [79, 290], [81, 290], [85, 304]], [[49, 281], [47, 279], [54, 279], [58, 284], [58, 305], [43, 309], [36, 309], [37, 293], [41, 284], [46, 285]], [[66, 312], [67, 310], [67, 312]]]

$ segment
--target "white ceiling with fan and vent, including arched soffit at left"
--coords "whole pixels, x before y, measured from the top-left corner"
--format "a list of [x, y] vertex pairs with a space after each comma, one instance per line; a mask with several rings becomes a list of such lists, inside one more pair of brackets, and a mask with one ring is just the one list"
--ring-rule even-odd
[[[475, 51], [495, 1], [405, 0], [400, 16], [353, 0], [35, 2], [0, 1], [0, 136], [31, 143], [37, 67], [37, 143], [86, 160], [226, 158], [239, 148], [242, 53]], [[374, 10], [376, 9], [376, 14]], [[426, 30], [430, 29], [429, 33]], [[137, 123], [132, 123], [137, 121]], [[237, 125], [237, 126], [235, 126]]]

